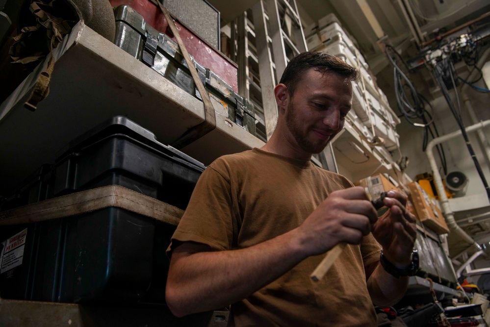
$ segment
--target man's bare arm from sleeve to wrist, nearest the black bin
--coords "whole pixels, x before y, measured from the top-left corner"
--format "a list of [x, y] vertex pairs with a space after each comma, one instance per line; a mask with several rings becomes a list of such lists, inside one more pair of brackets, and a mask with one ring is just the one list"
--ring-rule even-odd
[[183, 316], [224, 307], [281, 277], [308, 255], [294, 233], [231, 251], [190, 253], [193, 245], [182, 244], [172, 255], [169, 308]]

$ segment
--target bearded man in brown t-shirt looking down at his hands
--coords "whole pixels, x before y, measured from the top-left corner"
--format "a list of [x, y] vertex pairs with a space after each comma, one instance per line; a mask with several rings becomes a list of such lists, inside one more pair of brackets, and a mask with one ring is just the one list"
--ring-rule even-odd
[[[293, 58], [274, 89], [270, 140], [205, 170], [169, 247], [175, 315], [231, 304], [232, 326], [376, 326], [372, 302], [403, 296], [408, 277], [378, 264], [376, 240], [395, 270], [410, 266], [416, 229], [405, 197], [389, 192], [378, 219], [364, 189], [309, 161], [342, 129], [357, 74], [326, 53]], [[313, 282], [341, 242], [349, 245]]]

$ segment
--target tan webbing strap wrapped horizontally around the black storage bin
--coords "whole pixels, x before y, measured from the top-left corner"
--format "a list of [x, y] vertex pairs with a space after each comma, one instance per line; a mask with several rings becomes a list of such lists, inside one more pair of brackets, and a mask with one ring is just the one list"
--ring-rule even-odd
[[107, 207], [177, 226], [184, 210], [119, 185], [108, 185], [0, 212], [0, 226], [75, 216]]

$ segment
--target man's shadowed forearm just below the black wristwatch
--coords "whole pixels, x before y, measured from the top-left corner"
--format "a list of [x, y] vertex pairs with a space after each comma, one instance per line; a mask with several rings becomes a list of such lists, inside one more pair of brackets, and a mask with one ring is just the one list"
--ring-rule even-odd
[[367, 280], [367, 289], [374, 304], [388, 307], [399, 302], [407, 290], [409, 277], [396, 278], [378, 264]]

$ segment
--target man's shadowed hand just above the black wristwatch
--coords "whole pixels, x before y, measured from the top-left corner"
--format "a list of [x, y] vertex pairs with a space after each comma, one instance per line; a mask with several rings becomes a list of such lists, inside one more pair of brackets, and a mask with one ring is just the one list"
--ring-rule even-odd
[[411, 254], [417, 235], [416, 218], [407, 210], [407, 198], [398, 191], [387, 192], [383, 203], [389, 210], [372, 226], [372, 233], [383, 247], [388, 261], [403, 269], [412, 261]]

